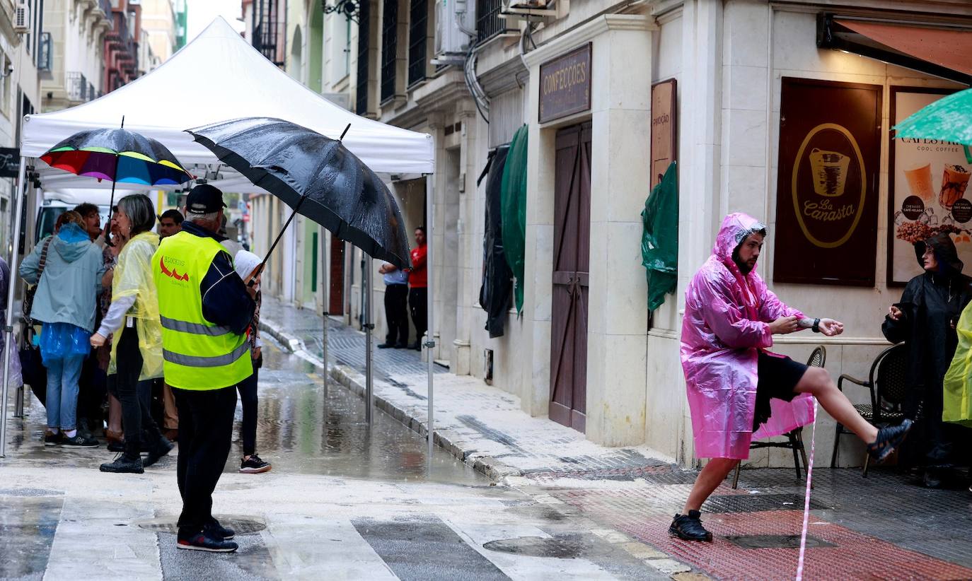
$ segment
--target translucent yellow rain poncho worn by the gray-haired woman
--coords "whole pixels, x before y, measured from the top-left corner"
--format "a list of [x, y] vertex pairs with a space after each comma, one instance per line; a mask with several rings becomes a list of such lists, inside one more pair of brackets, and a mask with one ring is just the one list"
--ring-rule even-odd
[[[158, 250], [158, 234], [142, 232], [128, 241], [121, 249], [115, 278], [112, 280], [112, 300], [135, 296], [135, 304], [125, 313], [125, 318], [138, 320], [138, 350], [142, 354], [142, 373], [139, 381], [162, 377], [162, 324], [158, 316], [158, 293], [152, 278], [152, 256]], [[112, 341], [112, 360], [108, 373], [116, 373], [116, 357], [121, 333], [128, 332], [121, 326], [119, 335]]]

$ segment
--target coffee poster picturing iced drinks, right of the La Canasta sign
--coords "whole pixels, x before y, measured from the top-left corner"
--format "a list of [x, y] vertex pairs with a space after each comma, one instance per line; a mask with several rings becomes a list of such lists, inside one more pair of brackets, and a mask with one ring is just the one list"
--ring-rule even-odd
[[[949, 89], [891, 87], [891, 125], [952, 93]], [[889, 137], [893, 132], [888, 132]], [[972, 191], [962, 147], [934, 139], [890, 139], [887, 284], [921, 274], [913, 243], [938, 232], [955, 241], [965, 272], [972, 272]]]

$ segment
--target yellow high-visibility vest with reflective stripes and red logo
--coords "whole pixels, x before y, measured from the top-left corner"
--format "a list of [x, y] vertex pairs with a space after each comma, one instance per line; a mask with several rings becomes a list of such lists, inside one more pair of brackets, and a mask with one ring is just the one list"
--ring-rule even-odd
[[219, 390], [253, 374], [250, 345], [202, 315], [199, 283], [213, 258], [226, 252], [213, 238], [179, 232], [162, 240], [152, 258], [162, 324], [165, 383], [182, 390]]

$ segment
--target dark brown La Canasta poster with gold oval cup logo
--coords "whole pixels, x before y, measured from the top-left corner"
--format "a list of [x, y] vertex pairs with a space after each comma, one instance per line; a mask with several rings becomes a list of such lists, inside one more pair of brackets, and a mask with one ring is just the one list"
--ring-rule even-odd
[[782, 79], [775, 282], [874, 286], [882, 92]]

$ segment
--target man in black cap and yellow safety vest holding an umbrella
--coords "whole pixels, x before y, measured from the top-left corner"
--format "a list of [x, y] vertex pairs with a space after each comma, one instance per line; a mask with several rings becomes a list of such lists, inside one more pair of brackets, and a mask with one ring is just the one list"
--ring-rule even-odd
[[165, 383], [179, 409], [177, 546], [212, 552], [237, 549], [233, 530], [213, 518], [213, 491], [229, 456], [236, 384], [253, 373], [245, 332], [256, 308], [216, 233], [225, 207], [218, 188], [192, 188], [182, 231], [152, 259]]

